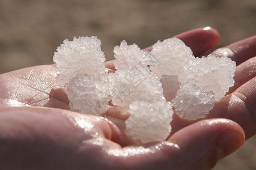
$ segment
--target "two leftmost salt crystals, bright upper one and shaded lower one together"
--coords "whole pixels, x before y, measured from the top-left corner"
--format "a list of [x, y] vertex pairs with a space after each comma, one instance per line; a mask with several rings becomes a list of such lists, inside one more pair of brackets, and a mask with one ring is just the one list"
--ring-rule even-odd
[[68, 95], [69, 108], [101, 114], [110, 101], [111, 84], [105, 73], [106, 60], [97, 37], [76, 37], [63, 41], [54, 53], [58, 67], [56, 82]]

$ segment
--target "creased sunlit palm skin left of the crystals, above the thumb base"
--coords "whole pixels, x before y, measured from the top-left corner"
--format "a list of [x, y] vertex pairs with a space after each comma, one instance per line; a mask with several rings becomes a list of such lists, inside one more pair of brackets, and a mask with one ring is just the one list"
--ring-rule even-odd
[[43, 106], [68, 109], [67, 95], [55, 82], [54, 65], [28, 67], [2, 74], [0, 106]]

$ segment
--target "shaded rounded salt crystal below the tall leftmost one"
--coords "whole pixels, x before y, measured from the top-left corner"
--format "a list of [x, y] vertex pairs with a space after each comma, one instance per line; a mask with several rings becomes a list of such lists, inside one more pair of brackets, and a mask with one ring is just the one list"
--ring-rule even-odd
[[108, 74], [77, 74], [69, 80], [66, 93], [69, 108], [86, 114], [102, 114], [109, 106], [110, 86]]

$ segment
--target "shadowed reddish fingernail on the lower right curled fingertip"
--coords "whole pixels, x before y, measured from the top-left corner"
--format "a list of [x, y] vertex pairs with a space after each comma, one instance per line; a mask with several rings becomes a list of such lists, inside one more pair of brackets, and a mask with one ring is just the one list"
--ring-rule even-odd
[[218, 137], [218, 160], [225, 158], [243, 145], [245, 136], [239, 131], [227, 130]]

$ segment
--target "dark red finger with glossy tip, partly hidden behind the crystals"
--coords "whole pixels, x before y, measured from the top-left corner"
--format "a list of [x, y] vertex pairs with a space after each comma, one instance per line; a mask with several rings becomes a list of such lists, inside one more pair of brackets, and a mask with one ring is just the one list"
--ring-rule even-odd
[[[190, 31], [180, 33], [174, 37], [183, 40], [185, 44], [192, 49], [195, 56], [199, 56], [207, 52], [220, 42], [220, 35], [216, 29], [210, 27], [192, 29]], [[151, 51], [151, 49], [152, 46], [149, 46], [144, 50]], [[115, 70], [113, 60], [105, 62], [105, 66], [106, 68]]]

